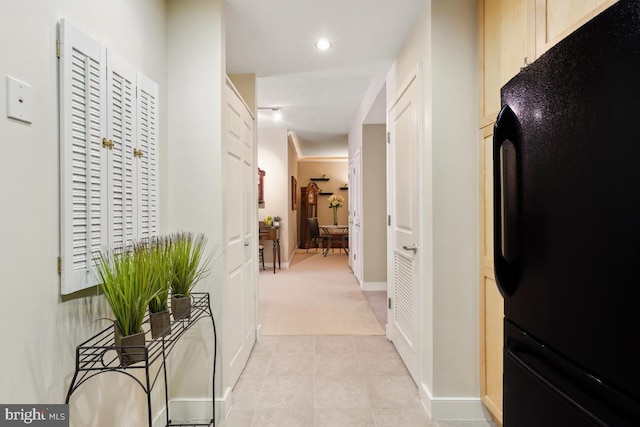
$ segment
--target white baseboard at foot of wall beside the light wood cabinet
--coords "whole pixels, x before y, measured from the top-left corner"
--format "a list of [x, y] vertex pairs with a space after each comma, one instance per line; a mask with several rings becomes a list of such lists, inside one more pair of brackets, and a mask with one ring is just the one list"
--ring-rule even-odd
[[[432, 397], [423, 383], [420, 400], [432, 420], [489, 421], [491, 415], [479, 397]], [[490, 426], [487, 423], [487, 427]]]

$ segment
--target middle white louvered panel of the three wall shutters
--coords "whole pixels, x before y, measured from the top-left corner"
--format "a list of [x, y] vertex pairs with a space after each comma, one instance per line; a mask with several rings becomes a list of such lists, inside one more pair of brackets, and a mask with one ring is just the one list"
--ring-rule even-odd
[[124, 247], [136, 235], [133, 148], [136, 138], [136, 70], [108, 55], [109, 244]]

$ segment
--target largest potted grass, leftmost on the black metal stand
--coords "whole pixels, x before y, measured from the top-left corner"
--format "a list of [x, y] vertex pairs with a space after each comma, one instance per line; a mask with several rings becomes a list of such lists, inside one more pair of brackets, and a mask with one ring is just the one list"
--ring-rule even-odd
[[123, 366], [144, 360], [142, 323], [154, 297], [150, 257], [133, 248], [101, 251], [96, 260], [102, 292], [113, 312], [114, 341]]

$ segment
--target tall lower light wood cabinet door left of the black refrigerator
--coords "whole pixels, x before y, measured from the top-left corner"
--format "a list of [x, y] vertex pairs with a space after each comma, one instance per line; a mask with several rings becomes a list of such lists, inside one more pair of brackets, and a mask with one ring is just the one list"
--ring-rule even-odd
[[493, 274], [493, 125], [482, 129], [480, 144], [480, 393], [500, 424], [504, 303]]

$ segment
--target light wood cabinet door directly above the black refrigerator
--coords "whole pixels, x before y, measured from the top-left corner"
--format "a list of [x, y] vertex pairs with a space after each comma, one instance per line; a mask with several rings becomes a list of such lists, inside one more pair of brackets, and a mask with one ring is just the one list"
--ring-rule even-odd
[[536, 58], [617, 0], [535, 0]]

